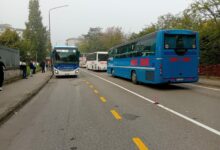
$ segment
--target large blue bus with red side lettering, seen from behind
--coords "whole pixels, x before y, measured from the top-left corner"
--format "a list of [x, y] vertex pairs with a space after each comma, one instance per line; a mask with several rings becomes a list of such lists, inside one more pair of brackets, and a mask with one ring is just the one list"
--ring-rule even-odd
[[109, 50], [107, 72], [133, 83], [198, 81], [199, 35], [191, 30], [160, 30]]

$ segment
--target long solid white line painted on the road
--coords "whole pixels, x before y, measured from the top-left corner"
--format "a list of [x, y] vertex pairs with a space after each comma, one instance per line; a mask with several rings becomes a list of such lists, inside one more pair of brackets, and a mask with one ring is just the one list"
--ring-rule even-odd
[[[83, 71], [84, 71], [84, 70], [83, 70]], [[129, 92], [129, 93], [131, 93], [131, 94], [133, 94], [133, 95], [135, 95], [135, 96], [137, 96], [137, 97], [143, 99], [143, 100], [146, 100], [146, 101], [148, 101], [148, 102], [154, 104], [154, 101], [153, 101], [153, 100], [151, 100], [151, 99], [149, 99], [149, 98], [146, 98], [146, 97], [144, 97], [144, 96], [142, 96], [142, 95], [140, 95], [140, 94], [138, 94], [138, 93], [135, 93], [135, 92], [133, 92], [133, 91], [131, 91], [131, 90], [129, 90], [129, 89], [127, 89], [127, 88], [121, 86], [121, 85], [118, 85], [118, 84], [116, 84], [116, 83], [114, 83], [114, 82], [111, 82], [111, 81], [109, 81], [109, 80], [107, 80], [107, 79], [104, 79], [104, 78], [102, 78], [102, 77], [99, 77], [98, 75], [95, 75], [95, 74], [90, 73], [90, 72], [88, 72], [88, 71], [84, 71], [84, 72], [86, 72], [86, 73], [88, 73], [88, 74], [90, 74], [90, 75], [92, 75], [92, 76], [94, 76], [94, 77], [97, 77], [97, 78], [99, 78], [99, 79], [101, 79], [101, 80], [103, 80], [103, 81], [106, 81], [106, 82], [108, 82], [108, 83], [110, 83], [110, 84], [113, 84], [113, 85], [115, 85], [115, 86], [117, 86], [117, 87], [119, 87], [119, 88], [121, 88], [121, 89], [123, 89], [123, 90], [125, 90], [125, 91], [127, 91], [127, 92]], [[202, 128], [204, 128], [204, 129], [206, 129], [206, 130], [208, 130], [208, 131], [210, 131], [210, 132], [212, 132], [212, 133], [214, 133], [214, 134], [220, 136], [220, 131], [218, 131], [218, 130], [216, 130], [216, 129], [214, 129], [214, 128], [211, 128], [211, 127], [209, 127], [209, 126], [207, 126], [207, 125], [205, 125], [205, 124], [203, 124], [203, 123], [200, 123], [200, 122], [198, 122], [198, 121], [195, 121], [195, 120], [193, 120], [193, 119], [191, 119], [191, 118], [189, 118], [189, 117], [187, 117], [187, 116], [185, 116], [185, 115], [183, 115], [183, 114], [181, 114], [181, 113], [178, 113], [178, 112], [176, 112], [175, 110], [172, 110], [172, 109], [170, 109], [170, 108], [168, 108], [168, 107], [166, 107], [166, 106], [163, 106], [163, 105], [161, 105], [161, 104], [158, 104], [157, 106], [160, 107], [160, 108], [162, 108], [162, 109], [164, 109], [164, 110], [166, 110], [166, 111], [168, 111], [168, 112], [170, 112], [170, 113], [172, 113], [172, 114], [175, 114], [176, 116], [179, 116], [179, 117], [181, 117], [181, 118], [183, 118], [183, 119], [185, 119], [185, 120], [187, 120], [187, 121], [189, 121], [189, 122], [191, 122], [191, 123], [193, 123], [193, 124], [195, 124], [195, 125], [197, 125], [197, 126], [199, 126], [199, 127], [202, 127]]]

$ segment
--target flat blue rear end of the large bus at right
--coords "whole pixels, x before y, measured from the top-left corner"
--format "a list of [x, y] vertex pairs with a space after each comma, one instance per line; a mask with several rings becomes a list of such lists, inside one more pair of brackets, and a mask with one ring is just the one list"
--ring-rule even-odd
[[163, 78], [175, 82], [197, 78], [196, 34], [165, 34], [162, 70]]

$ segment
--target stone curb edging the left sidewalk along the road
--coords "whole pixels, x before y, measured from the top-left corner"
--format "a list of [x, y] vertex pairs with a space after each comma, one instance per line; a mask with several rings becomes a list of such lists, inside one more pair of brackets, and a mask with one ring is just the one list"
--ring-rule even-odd
[[50, 79], [53, 77], [53, 75], [50, 75], [50, 77], [38, 88], [31, 91], [27, 95], [25, 95], [24, 98], [22, 98], [17, 104], [9, 108], [7, 111], [5, 111], [3, 114], [0, 115], [0, 126], [4, 124], [8, 119], [10, 119], [18, 110], [20, 110], [25, 104], [27, 104], [35, 95], [37, 95], [40, 90], [50, 81]]

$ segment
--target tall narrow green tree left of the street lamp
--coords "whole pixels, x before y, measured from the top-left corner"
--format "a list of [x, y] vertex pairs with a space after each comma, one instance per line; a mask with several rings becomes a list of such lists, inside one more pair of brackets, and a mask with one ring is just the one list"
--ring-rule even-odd
[[24, 31], [24, 38], [32, 44], [32, 59], [37, 54], [38, 61], [44, 60], [47, 54], [48, 35], [42, 23], [38, 0], [30, 0], [29, 2], [29, 17]]

